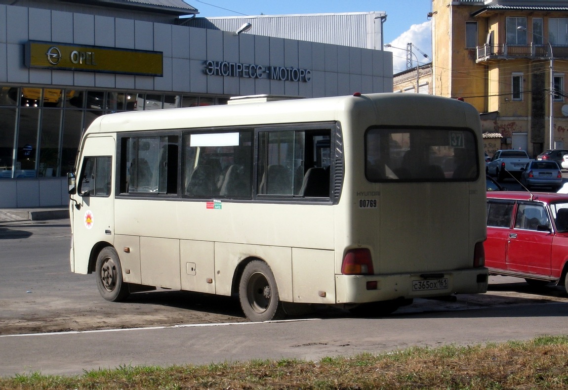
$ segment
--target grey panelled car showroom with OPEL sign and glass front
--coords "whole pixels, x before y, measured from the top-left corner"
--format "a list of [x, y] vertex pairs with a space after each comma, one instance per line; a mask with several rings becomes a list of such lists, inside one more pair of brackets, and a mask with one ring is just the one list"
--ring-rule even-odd
[[102, 114], [392, 91], [390, 52], [190, 27], [181, 0], [0, 0], [0, 208], [68, 204]]

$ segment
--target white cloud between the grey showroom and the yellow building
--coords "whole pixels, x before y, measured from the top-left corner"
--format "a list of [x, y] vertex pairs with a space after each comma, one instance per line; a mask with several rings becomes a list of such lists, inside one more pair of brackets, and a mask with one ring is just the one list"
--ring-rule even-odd
[[[392, 47], [386, 47], [385, 50], [392, 52], [392, 69], [394, 73], [403, 72], [406, 70], [406, 47], [407, 43], [414, 44], [412, 47], [412, 67], [416, 67], [416, 58], [420, 65], [431, 62], [432, 58], [432, 35], [431, 35], [431, 22], [424, 22], [422, 24], [412, 24], [408, 31], [403, 32], [397, 38], [389, 42]], [[400, 49], [396, 49], [400, 48]], [[429, 58], [425, 58], [420, 51], [426, 53]]]

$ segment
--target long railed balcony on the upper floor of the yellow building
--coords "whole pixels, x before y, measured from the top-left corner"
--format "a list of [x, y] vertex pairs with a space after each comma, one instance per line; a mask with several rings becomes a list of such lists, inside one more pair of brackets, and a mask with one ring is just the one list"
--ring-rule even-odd
[[[554, 58], [568, 58], [568, 45], [552, 45]], [[491, 60], [514, 59], [546, 60], [550, 59], [549, 47], [546, 45], [490, 45], [477, 47], [475, 63], [488, 63]]]

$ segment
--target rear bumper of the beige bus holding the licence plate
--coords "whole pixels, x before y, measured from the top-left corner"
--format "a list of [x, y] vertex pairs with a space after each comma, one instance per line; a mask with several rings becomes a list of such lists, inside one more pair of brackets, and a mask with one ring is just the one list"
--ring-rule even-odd
[[485, 267], [436, 273], [336, 275], [336, 303], [360, 304], [396, 298], [429, 298], [487, 292]]

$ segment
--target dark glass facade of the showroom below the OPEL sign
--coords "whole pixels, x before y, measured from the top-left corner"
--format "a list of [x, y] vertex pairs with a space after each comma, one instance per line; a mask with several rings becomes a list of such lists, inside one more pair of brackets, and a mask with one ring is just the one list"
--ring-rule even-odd
[[119, 111], [226, 104], [227, 98], [135, 91], [0, 87], [0, 179], [61, 177], [83, 129]]

